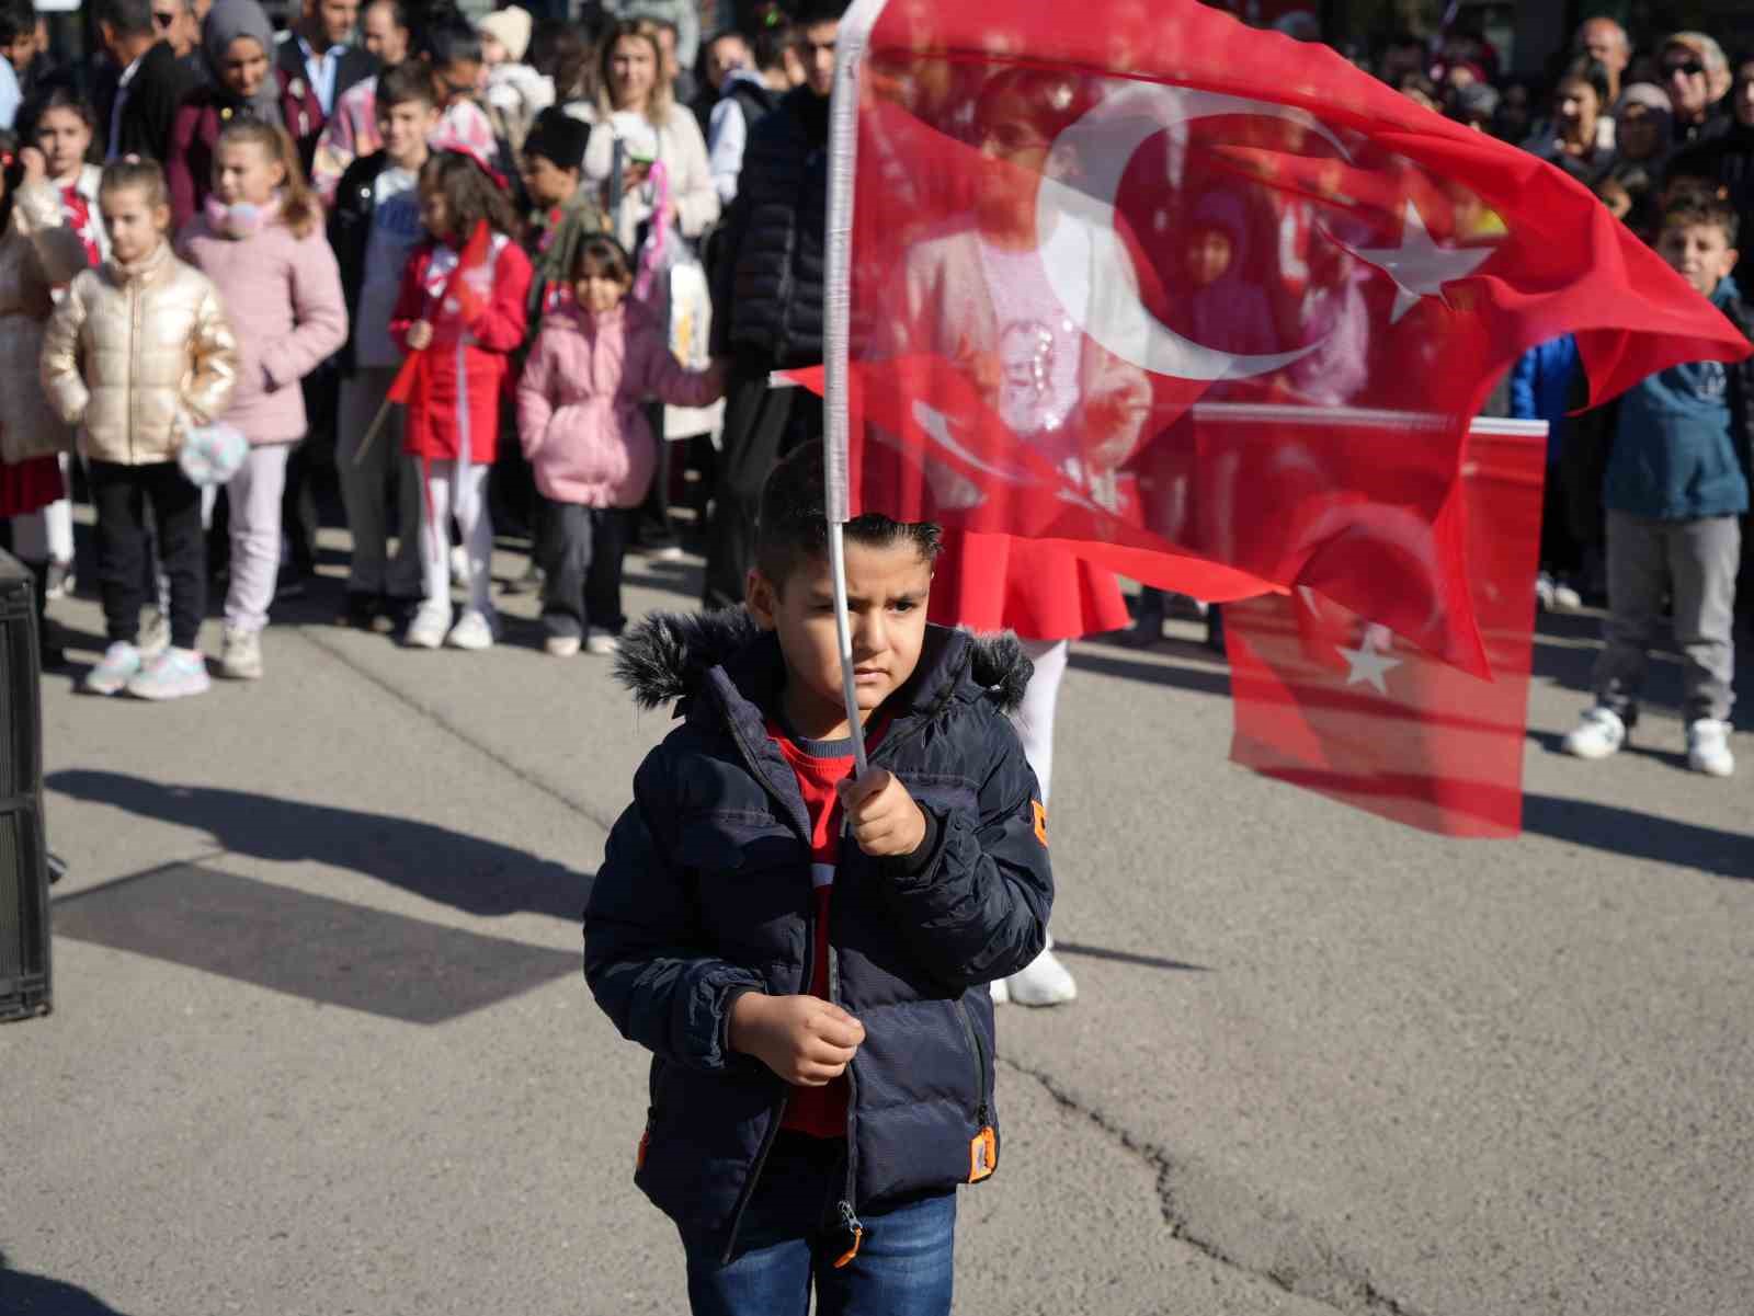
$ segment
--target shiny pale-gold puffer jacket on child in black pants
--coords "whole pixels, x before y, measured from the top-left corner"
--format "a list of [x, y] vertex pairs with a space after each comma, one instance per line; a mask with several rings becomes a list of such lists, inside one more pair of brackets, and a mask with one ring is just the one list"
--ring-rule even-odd
[[86, 270], [42, 340], [42, 387], [82, 424], [91, 461], [170, 461], [184, 424], [210, 424], [237, 386], [237, 336], [219, 291], [170, 244], [133, 266]]

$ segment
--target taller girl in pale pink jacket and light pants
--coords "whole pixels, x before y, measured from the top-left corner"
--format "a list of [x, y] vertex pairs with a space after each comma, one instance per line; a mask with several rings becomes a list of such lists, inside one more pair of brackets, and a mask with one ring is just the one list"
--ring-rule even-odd
[[286, 459], [305, 436], [298, 382], [347, 342], [340, 268], [284, 128], [233, 119], [214, 147], [214, 187], [182, 230], [184, 259], [219, 287], [240, 370], [221, 424], [249, 440], [232, 477], [232, 585], [219, 671], [261, 676], [261, 627], [281, 568]]

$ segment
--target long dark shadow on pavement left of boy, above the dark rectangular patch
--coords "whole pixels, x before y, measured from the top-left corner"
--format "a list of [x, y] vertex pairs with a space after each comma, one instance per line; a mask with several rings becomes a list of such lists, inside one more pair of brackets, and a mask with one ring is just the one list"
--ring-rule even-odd
[[53, 773], [44, 785], [72, 799], [207, 831], [235, 855], [351, 869], [470, 915], [530, 911], [579, 922], [591, 892], [589, 874], [528, 850], [386, 813], [93, 769]]

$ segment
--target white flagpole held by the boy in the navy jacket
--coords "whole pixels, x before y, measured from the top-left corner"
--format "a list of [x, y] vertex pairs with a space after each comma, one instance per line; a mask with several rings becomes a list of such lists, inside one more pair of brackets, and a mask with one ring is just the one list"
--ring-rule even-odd
[[852, 619], [847, 613], [847, 555], [842, 527], [851, 515], [847, 477], [847, 352], [852, 310], [852, 180], [858, 170], [859, 72], [865, 44], [884, 0], [854, 0], [835, 40], [835, 95], [828, 110], [828, 279], [823, 307], [823, 468], [826, 471], [828, 570], [835, 582], [840, 694], [847, 704], [852, 761], [865, 776], [865, 724], [852, 676]]

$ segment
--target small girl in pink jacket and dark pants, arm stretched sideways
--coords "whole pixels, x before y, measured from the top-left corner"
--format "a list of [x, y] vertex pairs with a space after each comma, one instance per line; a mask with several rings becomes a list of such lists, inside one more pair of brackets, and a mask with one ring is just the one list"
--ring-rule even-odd
[[574, 305], [542, 319], [517, 384], [517, 433], [544, 499], [538, 557], [544, 647], [570, 657], [579, 643], [612, 654], [626, 624], [621, 557], [633, 510], [644, 501], [658, 440], [640, 403], [675, 407], [724, 396], [724, 370], [684, 370], [663, 326], [628, 300], [633, 268], [607, 235], [579, 247]]

